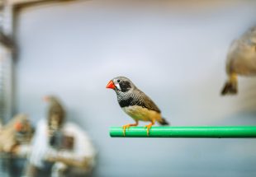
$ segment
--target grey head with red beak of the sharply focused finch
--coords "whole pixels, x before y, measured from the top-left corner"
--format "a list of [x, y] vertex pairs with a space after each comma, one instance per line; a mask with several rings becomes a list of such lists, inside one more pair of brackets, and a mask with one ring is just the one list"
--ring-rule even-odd
[[127, 92], [135, 88], [135, 85], [127, 77], [115, 77], [108, 82], [106, 88], [116, 92]]

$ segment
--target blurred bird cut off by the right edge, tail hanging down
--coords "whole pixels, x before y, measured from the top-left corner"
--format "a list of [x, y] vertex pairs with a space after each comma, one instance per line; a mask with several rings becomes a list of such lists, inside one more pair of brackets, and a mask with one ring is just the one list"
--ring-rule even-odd
[[256, 26], [230, 45], [226, 72], [229, 80], [225, 83], [221, 95], [237, 93], [237, 75], [256, 75]]

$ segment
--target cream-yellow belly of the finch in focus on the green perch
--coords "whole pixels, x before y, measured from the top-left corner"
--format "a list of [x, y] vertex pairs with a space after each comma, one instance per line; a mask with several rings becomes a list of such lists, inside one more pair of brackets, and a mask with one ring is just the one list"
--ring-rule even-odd
[[128, 106], [122, 108], [126, 114], [130, 115], [135, 120], [142, 120], [142, 121], [152, 121], [156, 120], [159, 121], [161, 119], [161, 114], [154, 110], [149, 110], [147, 108], [143, 108], [138, 105]]

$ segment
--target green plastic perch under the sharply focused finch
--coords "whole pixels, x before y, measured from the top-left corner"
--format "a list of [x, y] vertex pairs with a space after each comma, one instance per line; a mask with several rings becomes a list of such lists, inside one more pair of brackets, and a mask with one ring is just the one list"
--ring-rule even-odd
[[[111, 137], [124, 137], [123, 128], [111, 127]], [[126, 137], [256, 137], [256, 126], [232, 127], [145, 127], [126, 129]]]

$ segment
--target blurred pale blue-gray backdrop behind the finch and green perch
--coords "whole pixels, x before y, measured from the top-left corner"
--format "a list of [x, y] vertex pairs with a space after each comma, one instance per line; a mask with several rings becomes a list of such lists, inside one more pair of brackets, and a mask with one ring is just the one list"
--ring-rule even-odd
[[[93, 2], [25, 7], [17, 16], [17, 112], [45, 116], [59, 95], [99, 152], [94, 176], [256, 176], [255, 139], [111, 138], [132, 123], [107, 82], [126, 76], [173, 126], [256, 124], [256, 80], [220, 96], [230, 42], [256, 24], [256, 2]], [[145, 123], [141, 123], [144, 125]]]

